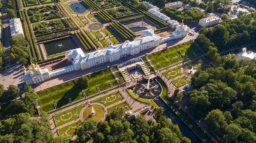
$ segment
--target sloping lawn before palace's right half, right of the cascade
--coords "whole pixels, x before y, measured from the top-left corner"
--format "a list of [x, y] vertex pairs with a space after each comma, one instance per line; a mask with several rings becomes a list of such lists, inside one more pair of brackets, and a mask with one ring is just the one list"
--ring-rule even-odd
[[186, 58], [185, 55], [188, 56], [188, 58], [192, 58], [193, 56], [195, 56], [192, 51], [195, 52], [197, 56], [202, 54], [202, 52], [196, 47], [196, 45], [192, 41], [188, 41], [186, 43], [182, 43], [180, 45], [176, 45], [174, 47], [167, 48], [153, 54], [149, 54], [148, 58], [156, 67], [156, 69], [160, 69], [158, 63], [163, 68], [167, 67], [170, 65], [168, 61], [170, 61], [171, 64], [177, 63], [177, 58], [179, 58], [180, 61], [183, 61]]

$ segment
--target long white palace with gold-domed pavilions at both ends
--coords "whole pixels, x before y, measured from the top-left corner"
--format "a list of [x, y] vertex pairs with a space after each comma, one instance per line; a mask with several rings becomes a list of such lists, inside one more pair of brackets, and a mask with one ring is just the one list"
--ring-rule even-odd
[[122, 44], [109, 45], [107, 49], [97, 50], [84, 54], [81, 48], [66, 51], [68, 61], [72, 61], [72, 65], [50, 71], [40, 69], [36, 64], [31, 63], [28, 72], [24, 71], [24, 80], [27, 84], [35, 84], [58, 76], [67, 72], [84, 70], [101, 63], [117, 61], [120, 58], [139, 54], [140, 51], [158, 46], [160, 43], [186, 36], [188, 28], [181, 23], [176, 26], [173, 35], [161, 38], [154, 34], [154, 30], [148, 29], [141, 31], [141, 38], [135, 41], [124, 41]]

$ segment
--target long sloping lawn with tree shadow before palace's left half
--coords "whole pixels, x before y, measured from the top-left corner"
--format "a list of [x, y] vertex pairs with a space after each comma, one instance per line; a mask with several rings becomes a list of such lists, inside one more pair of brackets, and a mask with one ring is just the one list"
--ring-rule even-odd
[[[97, 87], [99, 87], [101, 91], [109, 89], [110, 85], [108, 80], [110, 80], [113, 86], [118, 85], [110, 69], [95, 72], [87, 77], [89, 79], [89, 86], [86, 89], [83, 89], [86, 96], [98, 93]], [[95, 87], [96, 84], [97, 87]], [[76, 84], [76, 80], [72, 80], [49, 89], [39, 91], [37, 94], [39, 96], [38, 99], [41, 109], [47, 112], [54, 109], [53, 100], [58, 107], [61, 107], [65, 104], [69, 104], [68, 98], [71, 98], [73, 102], [82, 99], [83, 95], [81, 91], [82, 89]]]

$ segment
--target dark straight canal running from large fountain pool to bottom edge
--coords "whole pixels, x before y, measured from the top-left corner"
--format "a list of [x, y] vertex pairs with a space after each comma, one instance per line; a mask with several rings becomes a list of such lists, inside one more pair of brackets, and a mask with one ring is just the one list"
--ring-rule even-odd
[[[200, 139], [192, 132], [192, 130], [184, 124], [184, 122], [174, 113], [169, 106], [166, 105], [166, 103], [158, 98], [157, 100], [154, 100], [154, 102], [157, 104], [157, 106], [161, 106], [164, 108], [164, 114], [166, 117], [172, 120], [173, 124], [178, 124], [180, 127], [180, 131], [182, 134], [189, 138], [191, 140], [191, 143], [202, 143]], [[193, 127], [192, 127], [193, 128]]]

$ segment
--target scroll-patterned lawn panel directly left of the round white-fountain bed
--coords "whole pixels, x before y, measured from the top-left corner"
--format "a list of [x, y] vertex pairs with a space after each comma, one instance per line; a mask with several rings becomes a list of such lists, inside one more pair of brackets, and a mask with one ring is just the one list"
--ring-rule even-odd
[[64, 113], [61, 113], [59, 115], [54, 116], [54, 120], [56, 123], [56, 126], [61, 126], [63, 124], [66, 124], [70, 121], [73, 121], [74, 119], [79, 118], [79, 114], [82, 110], [83, 106], [77, 107], [75, 109], [72, 109], [70, 111], [66, 111]]

